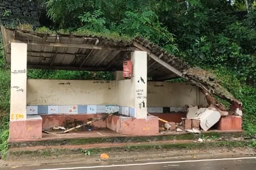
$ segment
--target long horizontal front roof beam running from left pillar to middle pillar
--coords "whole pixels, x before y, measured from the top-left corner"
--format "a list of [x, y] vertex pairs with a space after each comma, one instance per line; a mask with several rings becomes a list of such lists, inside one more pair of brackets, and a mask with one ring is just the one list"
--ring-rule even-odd
[[134, 51], [135, 47], [116, 47], [109, 45], [94, 45], [94, 44], [80, 44], [80, 43], [65, 43], [65, 42], [46, 42], [46, 41], [31, 41], [31, 40], [13, 40], [13, 42], [27, 43], [28, 45], [43, 45], [55, 47], [69, 47], [69, 48], [87, 48], [87, 49], [104, 49], [104, 50], [118, 50], [118, 51]]

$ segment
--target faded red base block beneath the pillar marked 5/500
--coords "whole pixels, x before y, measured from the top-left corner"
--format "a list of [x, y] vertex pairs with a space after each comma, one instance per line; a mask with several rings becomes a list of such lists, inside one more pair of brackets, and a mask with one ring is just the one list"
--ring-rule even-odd
[[42, 138], [42, 118], [39, 115], [27, 116], [25, 121], [10, 122], [10, 142], [34, 138]]

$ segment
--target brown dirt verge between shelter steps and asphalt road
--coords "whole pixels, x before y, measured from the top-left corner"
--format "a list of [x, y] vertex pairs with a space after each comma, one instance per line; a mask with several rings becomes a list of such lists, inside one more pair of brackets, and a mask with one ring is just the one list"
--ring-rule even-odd
[[163, 151], [161, 149], [157, 151], [143, 151], [143, 152], [129, 152], [120, 154], [111, 154], [109, 159], [100, 159], [100, 155], [85, 155], [84, 153], [76, 155], [61, 155], [58, 157], [43, 157], [43, 158], [29, 158], [29, 159], [16, 159], [16, 160], [0, 160], [0, 168], [15, 168], [40, 166], [40, 165], [59, 165], [59, 164], [77, 164], [77, 163], [99, 163], [99, 162], [131, 162], [131, 161], [143, 161], [143, 160], [163, 160], [163, 159], [195, 159], [205, 157], [232, 157], [239, 155], [256, 155], [255, 149], [249, 147], [242, 148], [221, 148], [221, 149], [182, 149], [174, 151]]

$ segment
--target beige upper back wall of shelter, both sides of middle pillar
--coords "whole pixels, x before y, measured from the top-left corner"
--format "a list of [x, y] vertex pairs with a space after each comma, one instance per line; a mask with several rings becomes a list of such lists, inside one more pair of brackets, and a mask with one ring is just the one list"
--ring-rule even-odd
[[[128, 80], [27, 80], [28, 105], [118, 105], [131, 107]], [[147, 107], [182, 107], [207, 102], [197, 86], [181, 82], [147, 84]]]

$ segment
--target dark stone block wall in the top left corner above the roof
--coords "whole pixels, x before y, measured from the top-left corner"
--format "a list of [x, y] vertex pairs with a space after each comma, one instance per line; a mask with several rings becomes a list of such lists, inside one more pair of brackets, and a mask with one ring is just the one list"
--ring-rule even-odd
[[30, 23], [40, 26], [36, 0], [0, 0], [0, 25], [16, 27]]

